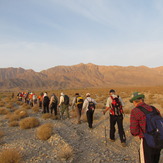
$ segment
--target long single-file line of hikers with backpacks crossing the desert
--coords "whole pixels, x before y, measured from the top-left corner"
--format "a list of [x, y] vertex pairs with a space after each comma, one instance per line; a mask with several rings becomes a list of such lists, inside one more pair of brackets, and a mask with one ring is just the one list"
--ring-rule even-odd
[[[29, 104], [32, 103], [35, 105], [36, 101], [38, 101], [39, 107], [43, 108], [43, 113], [49, 113], [50, 110], [51, 114], [57, 116], [57, 110], [59, 108], [61, 119], [64, 119], [64, 112], [66, 112], [66, 117], [70, 118], [70, 98], [63, 92], [60, 94], [59, 100], [55, 94], [52, 94], [49, 98], [47, 92], [41, 93], [38, 98], [35, 97], [35, 94], [32, 96], [32, 93], [25, 94], [25, 96], [19, 96], [18, 99], [22, 100], [22, 97], [24, 97], [25, 102]], [[144, 94], [134, 92], [129, 100], [134, 105], [130, 114], [130, 132], [133, 136], [139, 136], [140, 138], [140, 162], [158, 163], [160, 159], [160, 152], [163, 148], [163, 118], [161, 117], [159, 110], [154, 106], [146, 104], [144, 99]], [[96, 104], [96, 101], [91, 98], [90, 93], [86, 94], [85, 99], [83, 99], [79, 93], [75, 94], [71, 106], [76, 109], [78, 124], [81, 123], [81, 115], [82, 112], [84, 112], [87, 117], [88, 127], [90, 129], [93, 128], [93, 115]], [[116, 94], [114, 89], [111, 89], [106, 101], [106, 107], [103, 111], [104, 115], [107, 111], [109, 111], [109, 141], [115, 142], [115, 125], [117, 124], [121, 145], [122, 147], [126, 147], [126, 135], [123, 127], [123, 108], [124, 102], [122, 98]]]

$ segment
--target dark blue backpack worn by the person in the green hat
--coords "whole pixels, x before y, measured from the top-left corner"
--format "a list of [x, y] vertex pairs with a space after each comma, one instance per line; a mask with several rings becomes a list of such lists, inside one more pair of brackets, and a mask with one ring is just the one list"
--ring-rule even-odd
[[154, 106], [153, 111], [148, 111], [142, 106], [138, 106], [146, 115], [146, 133], [144, 138], [147, 144], [152, 148], [163, 149], [163, 118]]

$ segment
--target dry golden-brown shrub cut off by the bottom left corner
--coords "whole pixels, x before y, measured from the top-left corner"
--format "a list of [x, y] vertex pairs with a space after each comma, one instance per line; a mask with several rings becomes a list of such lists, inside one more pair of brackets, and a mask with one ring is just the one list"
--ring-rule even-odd
[[22, 155], [17, 149], [4, 149], [0, 153], [0, 162], [3, 163], [21, 163]]

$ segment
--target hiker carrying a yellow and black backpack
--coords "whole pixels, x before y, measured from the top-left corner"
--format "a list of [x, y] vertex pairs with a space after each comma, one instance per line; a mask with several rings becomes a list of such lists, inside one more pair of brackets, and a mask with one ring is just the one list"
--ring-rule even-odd
[[72, 101], [72, 107], [75, 107], [76, 113], [77, 113], [77, 124], [81, 123], [81, 112], [83, 107], [83, 98], [79, 95], [79, 93], [75, 93], [75, 97]]

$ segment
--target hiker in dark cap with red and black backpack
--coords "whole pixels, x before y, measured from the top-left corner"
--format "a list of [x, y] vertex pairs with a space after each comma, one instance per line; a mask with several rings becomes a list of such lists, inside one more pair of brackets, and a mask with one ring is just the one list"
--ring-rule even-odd
[[116, 95], [114, 89], [109, 91], [109, 97], [106, 102], [106, 109], [103, 111], [103, 114], [109, 110], [110, 111], [110, 141], [115, 142], [115, 124], [118, 126], [118, 133], [123, 147], [126, 146], [126, 136], [123, 129], [123, 106], [124, 102], [121, 97]]

